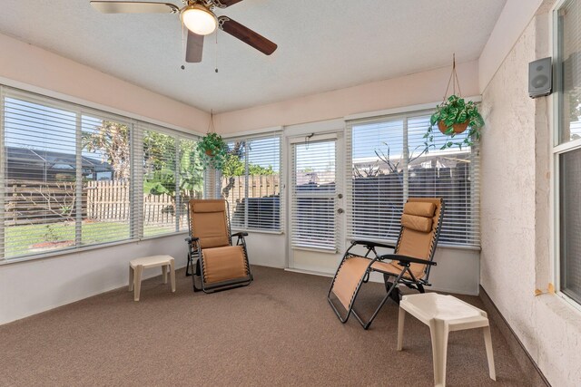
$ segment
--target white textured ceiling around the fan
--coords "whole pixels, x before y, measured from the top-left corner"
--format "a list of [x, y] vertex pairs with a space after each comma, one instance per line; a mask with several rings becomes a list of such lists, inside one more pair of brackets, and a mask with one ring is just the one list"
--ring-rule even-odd
[[244, 0], [216, 14], [278, 50], [266, 56], [220, 31], [218, 44], [206, 37], [202, 63], [184, 63], [177, 15], [103, 15], [89, 0], [2, 0], [0, 33], [222, 112], [438, 68], [452, 53], [458, 62], [476, 60], [505, 3]]

